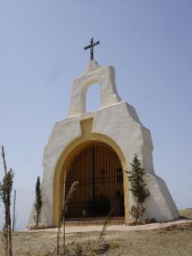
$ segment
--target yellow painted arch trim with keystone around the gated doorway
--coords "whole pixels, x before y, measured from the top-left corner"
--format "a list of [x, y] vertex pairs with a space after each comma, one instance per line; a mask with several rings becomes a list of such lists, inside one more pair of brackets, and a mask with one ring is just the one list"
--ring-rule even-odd
[[54, 182], [53, 182], [53, 205], [52, 205], [52, 226], [58, 227], [59, 224], [59, 213], [61, 210], [62, 201], [64, 196], [64, 179], [66, 176], [66, 170], [70, 160], [77, 151], [79, 151], [82, 144], [89, 144], [91, 141], [100, 141], [108, 144], [119, 156], [121, 164], [123, 166], [123, 188], [124, 188], [124, 208], [125, 208], [125, 220], [130, 218], [129, 210], [129, 184], [128, 178], [124, 171], [128, 170], [127, 161], [123, 155], [123, 152], [119, 145], [117, 145], [110, 137], [101, 133], [91, 133], [91, 121], [85, 120], [80, 123], [81, 125], [81, 136], [71, 143], [69, 143], [59, 156], [59, 161], [55, 168]]

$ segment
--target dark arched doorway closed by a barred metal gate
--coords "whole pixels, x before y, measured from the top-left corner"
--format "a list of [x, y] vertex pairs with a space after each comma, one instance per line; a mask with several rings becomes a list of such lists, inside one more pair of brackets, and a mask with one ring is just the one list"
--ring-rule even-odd
[[66, 172], [65, 195], [74, 181], [80, 186], [68, 207], [67, 219], [124, 216], [123, 167], [108, 144], [91, 141], [80, 146]]

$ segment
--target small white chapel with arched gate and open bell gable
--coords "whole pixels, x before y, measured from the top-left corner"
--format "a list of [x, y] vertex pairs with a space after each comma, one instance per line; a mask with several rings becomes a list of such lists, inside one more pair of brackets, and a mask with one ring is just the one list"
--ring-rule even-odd
[[[86, 112], [86, 92], [99, 83], [101, 106]], [[74, 181], [80, 186], [71, 199], [67, 220], [105, 218], [129, 220], [133, 196], [126, 171], [138, 155], [150, 197], [144, 202], [145, 219], [178, 218], [178, 210], [165, 181], [155, 174], [150, 131], [141, 123], [133, 106], [123, 102], [115, 84], [115, 70], [91, 59], [87, 69], [71, 85], [67, 118], [56, 122], [43, 155], [43, 206], [40, 222], [57, 227], [61, 208]], [[34, 206], [28, 226], [35, 224]]]

